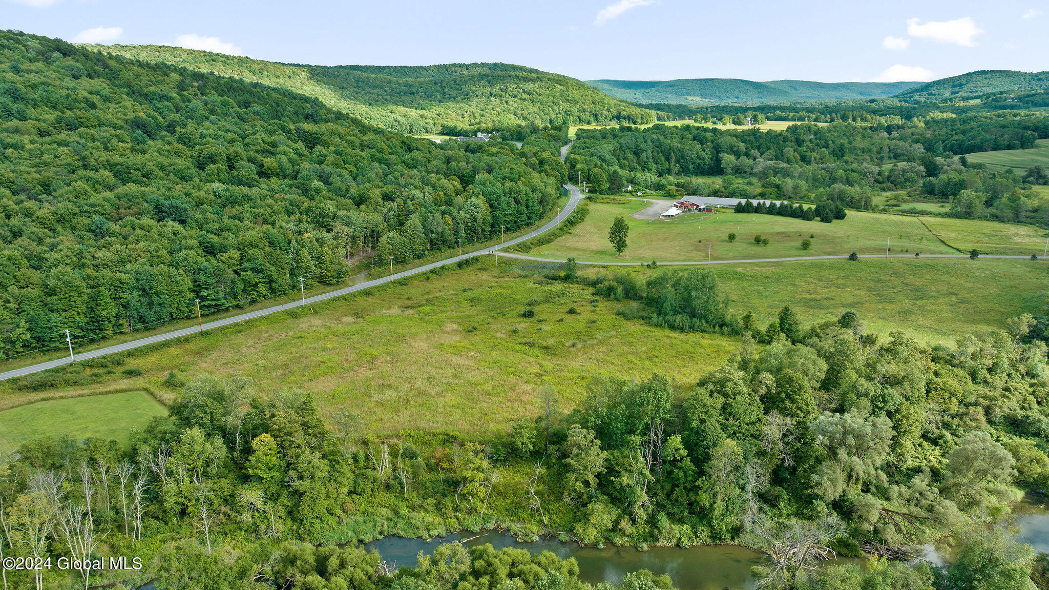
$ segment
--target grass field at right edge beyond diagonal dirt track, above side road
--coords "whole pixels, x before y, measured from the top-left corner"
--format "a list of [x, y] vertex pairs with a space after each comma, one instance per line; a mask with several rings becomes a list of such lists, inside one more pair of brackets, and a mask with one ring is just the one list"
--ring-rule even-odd
[[950, 246], [963, 252], [975, 248], [981, 254], [1042, 256], [1049, 235], [1044, 229], [1020, 224], [952, 217], [921, 217], [921, 220]]

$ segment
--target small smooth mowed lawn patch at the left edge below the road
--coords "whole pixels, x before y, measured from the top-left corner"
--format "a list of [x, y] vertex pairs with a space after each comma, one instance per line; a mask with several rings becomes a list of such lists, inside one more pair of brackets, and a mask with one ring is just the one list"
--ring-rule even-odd
[[39, 401], [0, 412], [0, 448], [47, 435], [124, 440], [132, 427], [167, 413], [146, 392]]

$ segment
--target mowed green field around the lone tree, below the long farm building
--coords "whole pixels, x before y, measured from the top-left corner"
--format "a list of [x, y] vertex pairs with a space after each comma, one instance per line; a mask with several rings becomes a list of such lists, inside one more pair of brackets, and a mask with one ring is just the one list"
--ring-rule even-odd
[[[641, 201], [628, 205], [591, 205], [586, 219], [572, 233], [534, 249], [539, 257], [564, 259], [573, 256], [591, 261], [705, 261], [783, 258], [792, 256], [847, 256], [884, 254], [886, 243], [894, 254], [957, 254], [944, 246], [917, 217], [849, 211], [844, 219], [832, 224], [805, 222], [778, 215], [688, 213], [676, 219], [637, 219], [630, 213], [645, 207]], [[629, 226], [627, 248], [616, 256], [608, 243], [608, 228], [617, 216]], [[1005, 224], [999, 224], [1005, 225]], [[734, 243], [728, 234], [736, 234]], [[769, 238], [768, 246], [754, 243], [754, 235]], [[801, 249], [811, 238], [812, 247]], [[702, 241], [701, 241], [702, 240]]]

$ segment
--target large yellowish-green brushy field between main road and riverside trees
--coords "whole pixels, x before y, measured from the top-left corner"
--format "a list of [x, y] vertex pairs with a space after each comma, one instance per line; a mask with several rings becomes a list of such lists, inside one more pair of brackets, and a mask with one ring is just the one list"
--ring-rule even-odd
[[[534, 416], [545, 385], [571, 407], [594, 375], [646, 377], [666, 372], [673, 351], [701, 350], [698, 362], [675, 370], [687, 383], [735, 350], [732, 338], [627, 321], [615, 314], [616, 303], [593, 307], [588, 288], [540, 285], [506, 265], [495, 273], [491, 265], [486, 259], [479, 271], [397, 281], [314, 305], [313, 314], [275, 314], [159, 345], [128, 357], [143, 376], [115, 374], [97, 386], [140, 383], [159, 395], [172, 370], [187, 379], [241, 372], [263, 395], [301, 388], [324, 410], [358, 412], [372, 431], [480, 433]], [[534, 318], [521, 317], [526, 307]], [[580, 313], [568, 314], [570, 307]], [[0, 383], [0, 398], [21, 395], [12, 387]]]

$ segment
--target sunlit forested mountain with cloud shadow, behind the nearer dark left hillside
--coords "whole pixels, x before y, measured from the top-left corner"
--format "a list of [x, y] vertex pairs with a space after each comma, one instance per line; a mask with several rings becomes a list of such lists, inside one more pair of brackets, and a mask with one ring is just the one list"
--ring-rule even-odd
[[158, 45], [89, 46], [295, 90], [404, 133], [494, 129], [535, 123], [649, 123], [655, 114], [574, 78], [504, 63], [318, 66]]

